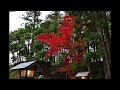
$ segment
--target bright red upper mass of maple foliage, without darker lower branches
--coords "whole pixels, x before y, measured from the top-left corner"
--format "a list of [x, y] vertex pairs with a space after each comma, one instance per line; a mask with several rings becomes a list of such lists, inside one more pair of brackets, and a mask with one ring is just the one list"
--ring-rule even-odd
[[59, 34], [39, 34], [38, 41], [44, 42], [50, 45], [50, 50], [46, 55], [56, 55], [58, 51], [63, 48], [70, 47], [70, 35], [73, 34], [73, 24], [74, 24], [74, 17], [73, 16], [65, 16], [60, 27]]

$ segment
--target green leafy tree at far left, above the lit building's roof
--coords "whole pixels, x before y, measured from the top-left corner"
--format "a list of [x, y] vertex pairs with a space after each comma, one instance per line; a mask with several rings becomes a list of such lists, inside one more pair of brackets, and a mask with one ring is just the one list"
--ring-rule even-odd
[[[21, 62], [21, 56], [26, 56], [26, 44], [25, 44], [25, 29], [20, 28], [14, 32], [11, 32], [9, 35], [9, 51], [13, 55], [13, 63]], [[17, 53], [17, 56], [15, 56]]]

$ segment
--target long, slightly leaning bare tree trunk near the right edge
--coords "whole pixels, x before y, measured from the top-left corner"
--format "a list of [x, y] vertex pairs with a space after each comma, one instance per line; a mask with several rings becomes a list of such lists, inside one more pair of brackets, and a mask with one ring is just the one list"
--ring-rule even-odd
[[[101, 13], [100, 13], [101, 14]], [[102, 14], [103, 15], [103, 14]], [[104, 73], [105, 73], [105, 79], [110, 79], [111, 78], [111, 71], [110, 71], [110, 64], [109, 64], [109, 55], [108, 55], [108, 49], [107, 49], [107, 45], [105, 42], [105, 33], [103, 32], [100, 22], [98, 22], [99, 17], [98, 17], [98, 12], [94, 12], [94, 17], [95, 17], [95, 26], [97, 29], [97, 32], [100, 34], [101, 36], [101, 47], [104, 49]], [[101, 18], [100, 18], [101, 19]], [[97, 23], [98, 22], [98, 23]], [[105, 31], [105, 30], [104, 30]], [[106, 30], [107, 31], [107, 30]], [[107, 35], [107, 34], [106, 34]], [[108, 35], [109, 36], [109, 35]], [[109, 41], [108, 41], [109, 44]]]

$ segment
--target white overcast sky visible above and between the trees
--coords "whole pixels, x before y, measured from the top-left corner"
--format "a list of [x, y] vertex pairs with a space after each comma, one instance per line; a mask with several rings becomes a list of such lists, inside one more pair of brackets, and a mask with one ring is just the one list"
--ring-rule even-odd
[[[45, 17], [50, 14], [51, 11], [41, 11], [41, 16], [40, 19], [45, 19]], [[61, 11], [63, 13], [63, 11]], [[17, 30], [18, 28], [24, 27], [23, 25], [21, 26], [22, 23], [25, 23], [22, 17], [22, 15], [25, 14], [25, 11], [10, 11], [9, 12], [9, 33], [11, 31]], [[11, 63], [11, 56], [12, 54], [9, 54], [9, 63]]]

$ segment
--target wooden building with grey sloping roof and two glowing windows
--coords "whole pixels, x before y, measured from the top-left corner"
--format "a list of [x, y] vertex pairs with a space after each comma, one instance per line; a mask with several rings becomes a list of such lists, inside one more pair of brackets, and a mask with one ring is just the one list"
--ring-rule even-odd
[[42, 61], [29, 61], [16, 65], [10, 70], [19, 70], [20, 79], [35, 79], [39, 75], [44, 75], [46, 78], [49, 77], [50, 62]]

